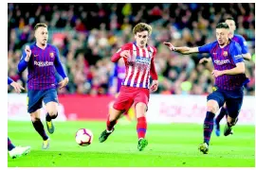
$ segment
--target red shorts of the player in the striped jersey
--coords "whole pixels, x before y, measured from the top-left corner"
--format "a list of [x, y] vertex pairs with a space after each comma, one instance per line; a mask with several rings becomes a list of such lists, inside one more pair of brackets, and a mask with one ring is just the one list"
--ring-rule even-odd
[[139, 102], [148, 106], [149, 93], [149, 90], [145, 88], [121, 86], [113, 108], [115, 110], [129, 110], [133, 104], [136, 106]]

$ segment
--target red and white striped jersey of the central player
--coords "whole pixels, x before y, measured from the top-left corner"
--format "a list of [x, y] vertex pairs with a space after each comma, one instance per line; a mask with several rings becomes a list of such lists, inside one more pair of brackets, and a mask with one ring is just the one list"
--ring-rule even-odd
[[123, 58], [126, 71], [122, 85], [149, 89], [150, 76], [154, 80], [157, 79], [154, 63], [156, 48], [147, 45], [142, 49], [137, 46], [136, 42], [126, 43], [112, 56], [112, 61], [118, 61], [123, 50], [130, 50], [131, 58]]

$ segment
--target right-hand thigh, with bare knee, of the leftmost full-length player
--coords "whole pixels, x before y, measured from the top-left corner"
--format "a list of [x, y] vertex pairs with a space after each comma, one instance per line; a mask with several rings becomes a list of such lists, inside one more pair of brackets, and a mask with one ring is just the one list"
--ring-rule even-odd
[[46, 90], [43, 101], [46, 104], [46, 111], [50, 115], [58, 112], [59, 101], [56, 89]]

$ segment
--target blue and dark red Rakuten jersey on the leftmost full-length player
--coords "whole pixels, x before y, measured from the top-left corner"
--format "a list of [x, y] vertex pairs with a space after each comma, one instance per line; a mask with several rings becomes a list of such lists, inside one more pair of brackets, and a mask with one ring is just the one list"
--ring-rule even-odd
[[46, 90], [57, 88], [55, 69], [63, 78], [66, 77], [58, 48], [51, 44], [47, 44], [45, 49], [38, 47], [36, 43], [29, 46], [31, 49], [29, 61], [25, 60], [27, 55], [23, 51], [18, 65], [19, 72], [28, 69], [27, 89]]

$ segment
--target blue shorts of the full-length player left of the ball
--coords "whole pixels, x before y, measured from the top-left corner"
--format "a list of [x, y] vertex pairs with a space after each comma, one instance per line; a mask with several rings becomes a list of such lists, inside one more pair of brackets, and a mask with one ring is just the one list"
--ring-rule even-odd
[[45, 104], [51, 101], [59, 103], [56, 89], [28, 90], [27, 112], [31, 113], [41, 109], [42, 101], [44, 101]]

